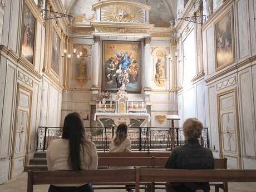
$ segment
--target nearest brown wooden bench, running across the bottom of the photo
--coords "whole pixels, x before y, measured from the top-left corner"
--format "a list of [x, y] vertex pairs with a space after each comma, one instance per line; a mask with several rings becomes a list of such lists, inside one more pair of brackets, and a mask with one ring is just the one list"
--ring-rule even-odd
[[123, 169], [85, 171], [28, 171], [27, 191], [33, 185], [142, 182], [256, 182], [256, 170]]

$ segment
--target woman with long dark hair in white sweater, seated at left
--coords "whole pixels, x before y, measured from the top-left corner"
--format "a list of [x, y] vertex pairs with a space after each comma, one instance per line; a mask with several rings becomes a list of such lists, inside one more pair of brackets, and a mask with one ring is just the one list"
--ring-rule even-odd
[[[47, 151], [48, 170], [97, 169], [97, 149], [85, 136], [85, 128], [76, 112], [65, 117], [62, 139], [51, 142]], [[91, 184], [50, 185], [48, 192], [93, 192]]]

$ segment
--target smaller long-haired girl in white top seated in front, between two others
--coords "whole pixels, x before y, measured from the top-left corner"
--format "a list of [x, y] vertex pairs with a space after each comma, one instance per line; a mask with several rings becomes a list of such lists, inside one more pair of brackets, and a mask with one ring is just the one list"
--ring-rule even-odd
[[[110, 143], [109, 152], [131, 152], [131, 141], [127, 135], [127, 125], [120, 124], [116, 129], [116, 136]], [[111, 167], [110, 169], [133, 169], [132, 167]], [[131, 192], [134, 185], [126, 185], [126, 190]]]

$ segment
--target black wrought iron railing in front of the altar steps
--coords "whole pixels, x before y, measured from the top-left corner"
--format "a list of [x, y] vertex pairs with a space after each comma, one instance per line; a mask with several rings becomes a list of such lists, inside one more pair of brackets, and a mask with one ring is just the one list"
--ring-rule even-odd
[[[94, 142], [98, 150], [108, 151], [110, 142], [115, 136], [116, 127], [85, 127], [87, 139]], [[175, 136], [171, 137], [171, 132]], [[180, 127], [129, 127], [128, 135], [132, 150], [154, 151], [171, 150], [183, 145], [185, 137]], [[62, 136], [62, 127], [38, 127], [37, 151], [46, 151], [50, 142]], [[204, 128], [201, 145], [209, 147], [208, 128]]]

